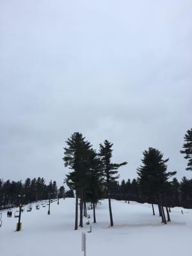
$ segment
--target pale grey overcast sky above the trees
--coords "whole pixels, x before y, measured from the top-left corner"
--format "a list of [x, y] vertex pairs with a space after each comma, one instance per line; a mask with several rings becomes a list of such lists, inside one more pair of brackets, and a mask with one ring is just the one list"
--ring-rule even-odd
[[179, 153], [192, 127], [191, 0], [0, 0], [0, 178], [61, 185], [82, 132], [136, 177], [142, 152]]

